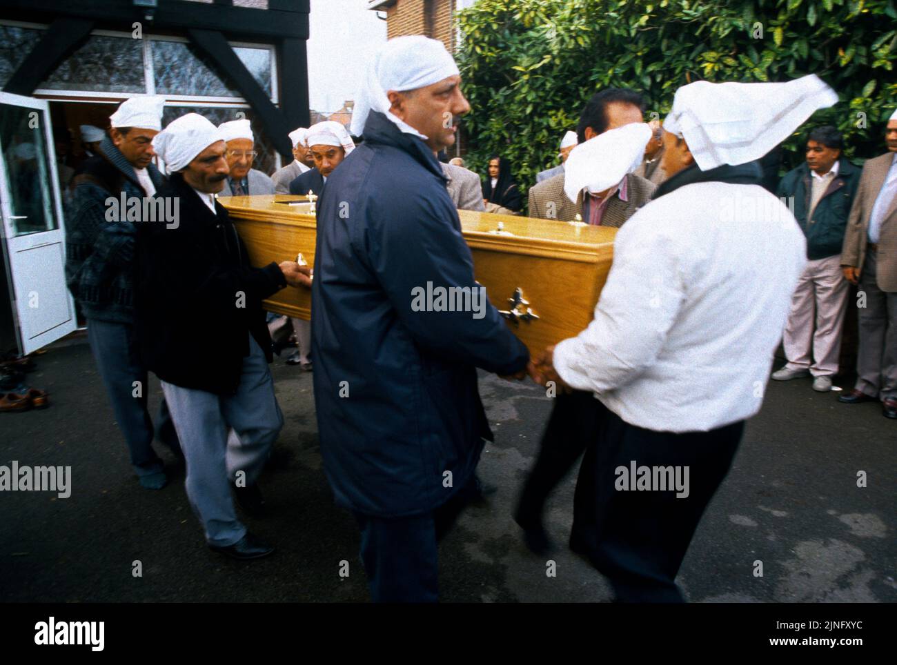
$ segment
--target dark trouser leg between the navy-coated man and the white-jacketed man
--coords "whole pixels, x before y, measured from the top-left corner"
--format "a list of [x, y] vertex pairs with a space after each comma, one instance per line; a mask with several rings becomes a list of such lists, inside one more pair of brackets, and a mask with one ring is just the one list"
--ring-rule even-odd
[[536, 464], [529, 472], [517, 508], [517, 519], [528, 527], [542, 522], [545, 501], [567, 471], [597, 436], [604, 409], [592, 393], [574, 391], [554, 398]]

